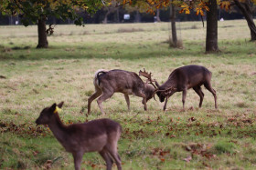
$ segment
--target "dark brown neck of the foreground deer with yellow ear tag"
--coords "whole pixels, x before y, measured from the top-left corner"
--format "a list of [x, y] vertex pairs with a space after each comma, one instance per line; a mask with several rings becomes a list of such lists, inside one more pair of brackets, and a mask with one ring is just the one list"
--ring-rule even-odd
[[59, 140], [60, 143], [64, 143], [67, 139], [67, 126], [63, 125], [59, 115], [53, 115], [52, 120], [48, 124], [49, 129], [52, 131], [53, 135]]

